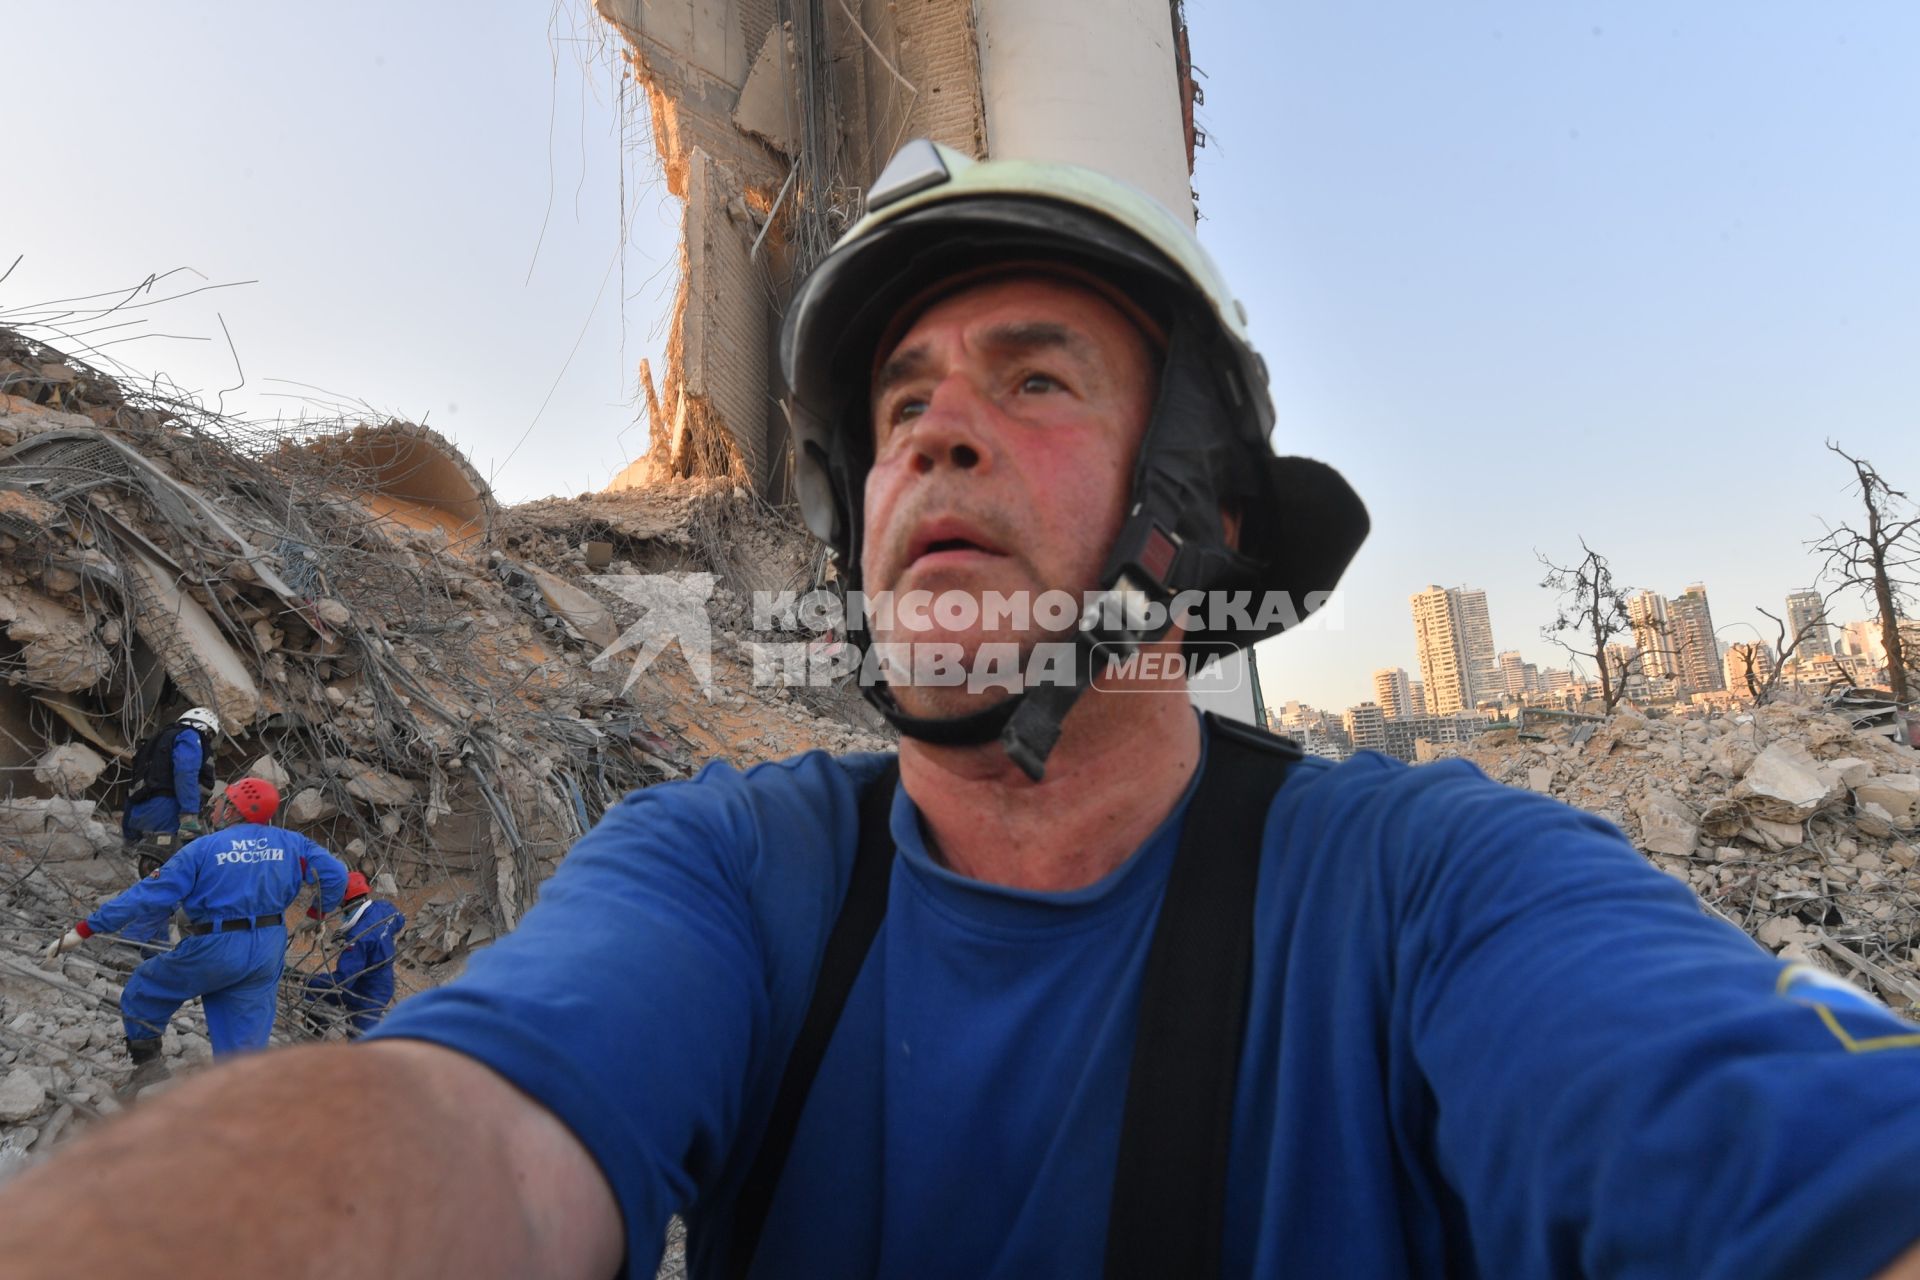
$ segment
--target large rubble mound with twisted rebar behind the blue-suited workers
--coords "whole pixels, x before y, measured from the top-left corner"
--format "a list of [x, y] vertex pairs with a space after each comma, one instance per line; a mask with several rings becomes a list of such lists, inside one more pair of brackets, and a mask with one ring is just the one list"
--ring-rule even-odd
[[[132, 881], [119, 812], [154, 729], [219, 712], [219, 779], [273, 781], [284, 825], [413, 919], [405, 992], [513, 929], [624, 793], [887, 745], [852, 689], [751, 679], [745, 601], [820, 572], [732, 482], [501, 509], [432, 430], [242, 424], [0, 330], [0, 1150], [44, 1150], [125, 1073], [136, 956], [38, 952]], [[712, 576], [710, 687], [672, 647], [632, 676], [645, 608], [607, 580], [634, 574]]]

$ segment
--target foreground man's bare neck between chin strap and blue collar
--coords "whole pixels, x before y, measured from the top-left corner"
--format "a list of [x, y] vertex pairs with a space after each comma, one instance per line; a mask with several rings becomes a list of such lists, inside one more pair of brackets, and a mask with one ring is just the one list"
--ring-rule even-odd
[[1089, 693], [1039, 783], [996, 743], [900, 741], [900, 783], [929, 852], [960, 875], [1048, 892], [1085, 889], [1125, 862], [1179, 804], [1198, 764], [1200, 723], [1185, 689]]

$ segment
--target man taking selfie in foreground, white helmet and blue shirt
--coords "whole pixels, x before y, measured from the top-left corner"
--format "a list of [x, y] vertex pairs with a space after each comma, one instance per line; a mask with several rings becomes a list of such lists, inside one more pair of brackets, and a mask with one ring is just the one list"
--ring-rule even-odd
[[23, 1174], [0, 1257], [645, 1276], [684, 1213], [701, 1276], [1920, 1276], [1912, 1027], [1596, 818], [1091, 666], [1279, 629], [1210, 597], [1298, 616], [1365, 532], [1192, 238], [927, 144], [868, 205], [781, 338], [808, 524], [876, 595], [1091, 603], [854, 639], [1071, 660], [630, 796], [363, 1046]]

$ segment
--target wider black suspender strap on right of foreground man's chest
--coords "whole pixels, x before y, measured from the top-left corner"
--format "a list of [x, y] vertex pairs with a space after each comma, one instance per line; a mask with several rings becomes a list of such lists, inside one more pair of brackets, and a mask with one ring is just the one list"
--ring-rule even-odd
[[1187, 806], [1140, 983], [1106, 1222], [1108, 1280], [1212, 1278], [1221, 1268], [1261, 831], [1300, 752], [1231, 720], [1206, 720], [1206, 773]]

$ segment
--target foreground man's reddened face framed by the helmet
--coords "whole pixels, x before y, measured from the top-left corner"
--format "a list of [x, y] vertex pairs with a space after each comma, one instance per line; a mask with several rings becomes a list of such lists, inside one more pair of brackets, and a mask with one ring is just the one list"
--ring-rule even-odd
[[[1008, 276], [929, 307], [874, 378], [866, 591], [1031, 603], [1058, 589], [1079, 601], [1125, 518], [1152, 395], [1152, 349], [1092, 290]], [[1025, 652], [1044, 639], [1037, 622], [943, 626], [933, 614], [874, 639], [958, 643], [970, 658], [985, 641]], [[972, 702], [964, 689], [895, 697], [922, 716]]]

